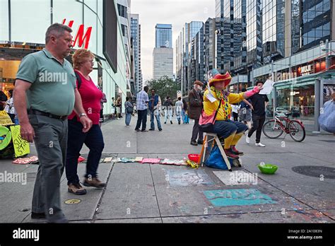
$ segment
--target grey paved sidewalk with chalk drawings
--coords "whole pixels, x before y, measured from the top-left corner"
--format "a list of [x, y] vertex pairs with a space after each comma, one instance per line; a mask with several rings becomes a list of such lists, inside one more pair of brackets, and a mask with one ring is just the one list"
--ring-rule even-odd
[[[163, 131], [156, 126], [155, 131], [136, 132], [136, 119], [131, 119], [131, 127], [125, 127], [124, 118], [102, 125], [102, 158], [182, 159], [189, 153], [200, 153], [201, 146], [189, 144], [192, 120], [178, 125], [174, 118], [173, 124], [163, 123]], [[147, 129], [149, 126], [148, 117]], [[227, 170], [207, 167], [194, 170], [173, 165], [100, 163], [99, 177], [107, 187], [86, 187], [88, 193], [84, 196], [67, 192], [63, 175], [62, 209], [71, 223], [334, 223], [335, 137], [308, 134], [305, 141], [296, 143], [290, 136], [262, 136], [261, 142], [265, 148], [254, 146], [252, 136], [247, 145], [243, 136], [237, 144], [245, 155], [241, 157], [242, 168], [233, 171], [244, 172], [250, 178], [257, 175], [256, 180], [249, 180], [253, 184], [232, 185], [232, 177], [238, 174], [233, 172], [235, 176], [231, 176]], [[33, 144], [31, 148], [31, 155], [36, 154]], [[84, 147], [82, 156], [87, 153]], [[276, 174], [261, 174], [257, 168], [261, 162], [278, 165]], [[296, 166], [302, 166], [295, 169], [310, 172], [310, 176], [294, 172]], [[78, 164], [81, 180], [85, 168], [85, 163]], [[0, 173], [5, 171], [26, 173], [28, 182], [0, 182], [0, 222], [44, 223], [30, 218], [37, 165], [0, 160]], [[69, 199], [80, 202], [65, 204]]]

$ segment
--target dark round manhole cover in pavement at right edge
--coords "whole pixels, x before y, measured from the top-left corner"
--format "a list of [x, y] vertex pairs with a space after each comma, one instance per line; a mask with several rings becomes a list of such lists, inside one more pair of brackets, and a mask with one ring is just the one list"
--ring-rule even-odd
[[[324, 177], [335, 180], [335, 168], [322, 167], [318, 165], [298, 165], [292, 168], [293, 172], [310, 177]], [[320, 176], [323, 175], [323, 176]]]

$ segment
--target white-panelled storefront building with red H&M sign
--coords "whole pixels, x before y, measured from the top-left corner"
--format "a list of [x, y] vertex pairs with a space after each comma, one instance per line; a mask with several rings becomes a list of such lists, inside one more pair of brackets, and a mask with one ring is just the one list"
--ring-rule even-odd
[[[1, 0], [0, 89], [13, 89], [20, 61], [45, 47], [52, 23], [71, 26], [74, 49], [95, 54], [94, 83], [107, 96], [104, 115], [112, 114], [111, 98], [127, 96], [127, 51], [116, 1], [7, 1]], [[52, 9], [52, 11], [50, 11]], [[112, 28], [111, 28], [112, 27]]]

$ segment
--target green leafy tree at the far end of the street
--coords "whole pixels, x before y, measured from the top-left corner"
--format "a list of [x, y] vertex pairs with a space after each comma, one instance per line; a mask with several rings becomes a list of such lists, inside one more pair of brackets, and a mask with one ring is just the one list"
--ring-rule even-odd
[[156, 93], [160, 95], [160, 99], [164, 102], [167, 95], [170, 96], [172, 100], [177, 99], [177, 90], [180, 90], [180, 83], [177, 83], [167, 76], [162, 76], [158, 80], [151, 79], [146, 81], [146, 85], [149, 87], [149, 96], [151, 94], [151, 89], [155, 89]]

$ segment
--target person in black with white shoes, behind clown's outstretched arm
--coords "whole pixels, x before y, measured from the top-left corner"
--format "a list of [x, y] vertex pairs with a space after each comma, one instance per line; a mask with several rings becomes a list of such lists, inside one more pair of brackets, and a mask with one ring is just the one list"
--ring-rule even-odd
[[[258, 81], [256, 83], [257, 87], [263, 86], [263, 81]], [[259, 93], [252, 95], [249, 98], [252, 101], [252, 128], [249, 130], [247, 138], [245, 141], [247, 144], [250, 143], [250, 137], [256, 131], [256, 146], [265, 147], [264, 144], [261, 144], [261, 129], [263, 129], [263, 125], [265, 122], [265, 109], [269, 103], [269, 98], [266, 95], [261, 95]]]

